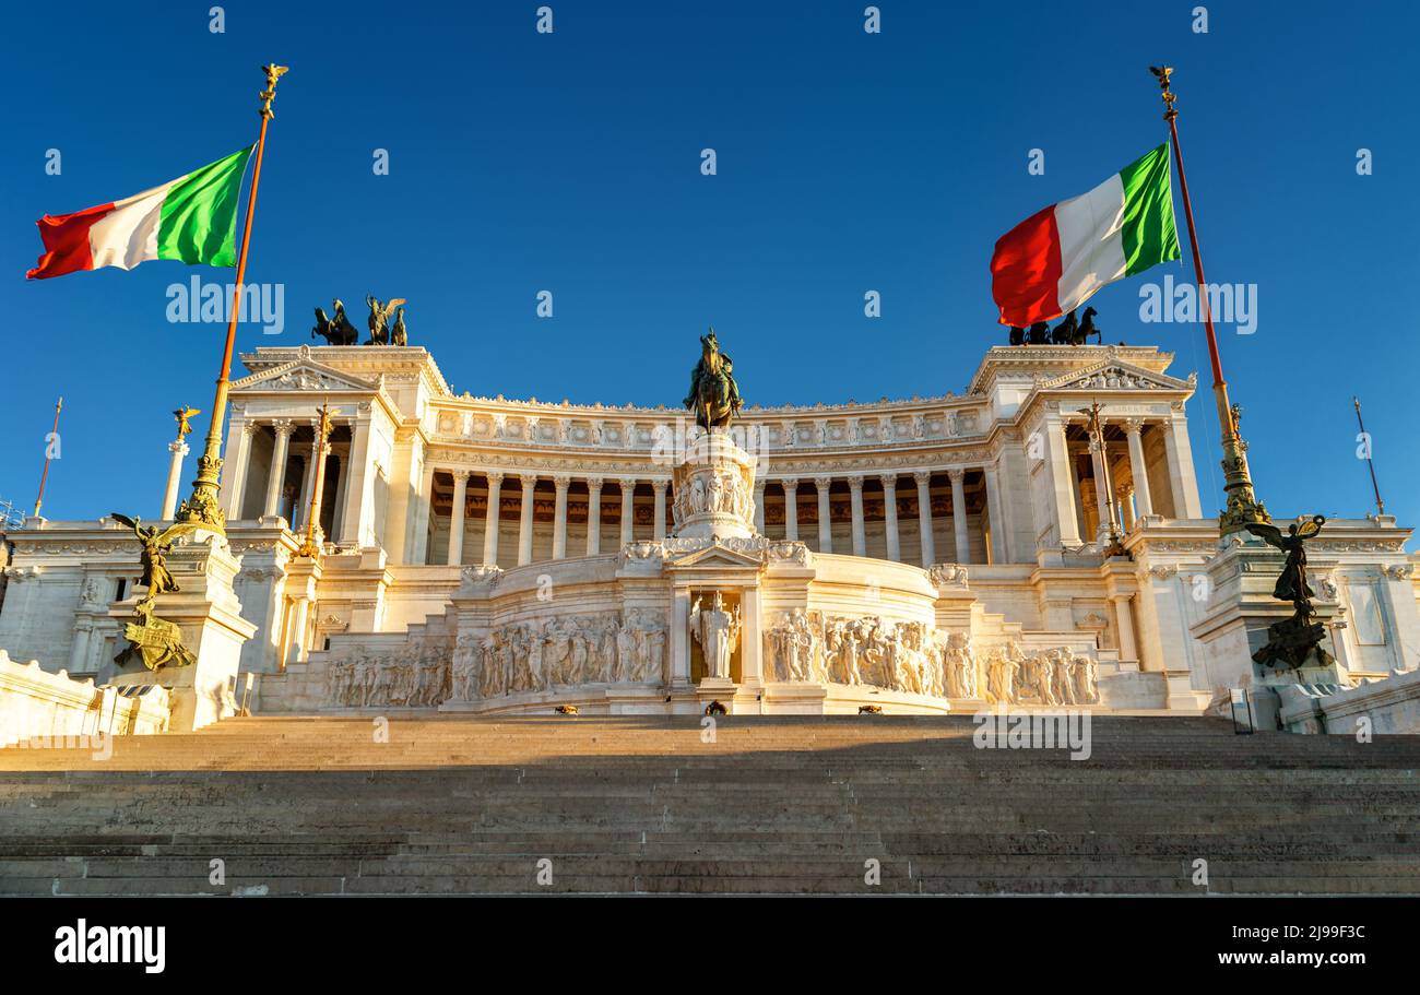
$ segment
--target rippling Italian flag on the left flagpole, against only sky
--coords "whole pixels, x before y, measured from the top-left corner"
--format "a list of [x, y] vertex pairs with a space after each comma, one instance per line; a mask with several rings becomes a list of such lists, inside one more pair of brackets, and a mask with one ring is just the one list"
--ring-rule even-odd
[[111, 204], [45, 214], [36, 221], [44, 255], [26, 275], [132, 270], [145, 260], [236, 265], [237, 197], [251, 148]]

